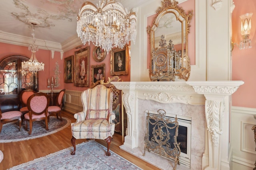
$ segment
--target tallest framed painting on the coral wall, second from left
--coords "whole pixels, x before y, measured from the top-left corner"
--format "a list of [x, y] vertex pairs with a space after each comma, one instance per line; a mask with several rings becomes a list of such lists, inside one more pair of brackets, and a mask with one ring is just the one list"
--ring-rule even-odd
[[74, 86], [89, 85], [90, 47], [75, 52]]

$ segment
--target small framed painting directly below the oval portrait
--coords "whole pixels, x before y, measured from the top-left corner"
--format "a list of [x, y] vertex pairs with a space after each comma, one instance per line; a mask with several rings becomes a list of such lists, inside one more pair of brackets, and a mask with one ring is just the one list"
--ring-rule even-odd
[[104, 80], [105, 78], [105, 63], [100, 65], [91, 66], [92, 69], [92, 84], [97, 81]]

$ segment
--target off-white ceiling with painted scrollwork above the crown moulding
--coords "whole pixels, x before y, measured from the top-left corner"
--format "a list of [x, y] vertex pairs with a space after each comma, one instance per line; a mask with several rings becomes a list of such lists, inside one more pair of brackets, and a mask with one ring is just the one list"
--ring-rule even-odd
[[[95, 5], [99, 0], [88, 0]], [[119, 0], [128, 10], [148, 0]], [[12, 33], [32, 37], [31, 22], [35, 27], [35, 38], [56, 43], [77, 35], [76, 17], [86, 0], [0, 0], [0, 33]]]

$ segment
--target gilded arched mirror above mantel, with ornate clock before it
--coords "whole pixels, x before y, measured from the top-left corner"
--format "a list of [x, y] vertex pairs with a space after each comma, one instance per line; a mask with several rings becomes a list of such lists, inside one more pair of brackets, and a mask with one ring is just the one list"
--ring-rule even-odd
[[175, 0], [161, 3], [152, 26], [147, 28], [151, 46], [150, 80], [175, 81], [178, 77], [187, 81], [190, 76], [188, 33], [193, 11], [186, 14]]

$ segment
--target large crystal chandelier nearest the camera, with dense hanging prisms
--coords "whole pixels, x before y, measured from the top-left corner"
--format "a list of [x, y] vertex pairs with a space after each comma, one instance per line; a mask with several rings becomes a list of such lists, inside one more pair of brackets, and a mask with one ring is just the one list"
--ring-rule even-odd
[[103, 0], [97, 7], [85, 2], [78, 13], [76, 32], [85, 44], [90, 41], [107, 53], [123, 48], [136, 38], [136, 14], [115, 0]]

